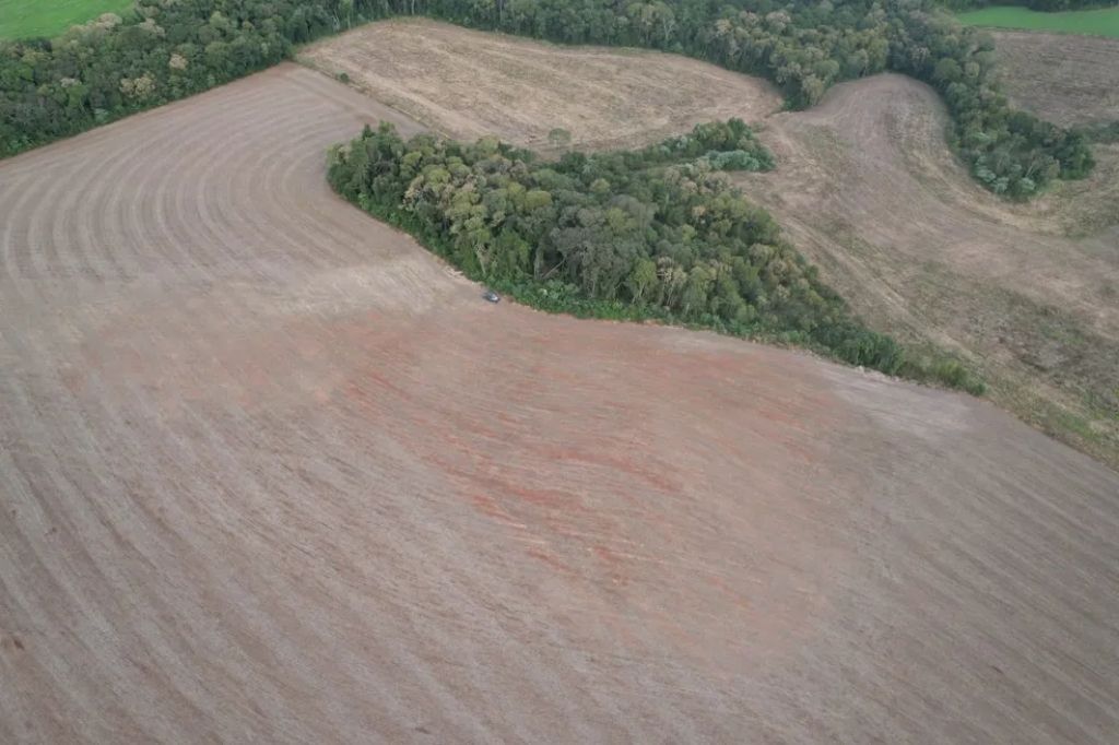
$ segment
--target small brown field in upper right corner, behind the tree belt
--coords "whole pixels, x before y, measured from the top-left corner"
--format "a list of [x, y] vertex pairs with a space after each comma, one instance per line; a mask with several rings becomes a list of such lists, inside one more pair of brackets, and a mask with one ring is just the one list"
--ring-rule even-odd
[[991, 31], [1010, 101], [1064, 126], [1119, 121], [1119, 39]]

